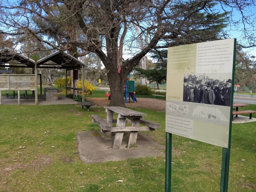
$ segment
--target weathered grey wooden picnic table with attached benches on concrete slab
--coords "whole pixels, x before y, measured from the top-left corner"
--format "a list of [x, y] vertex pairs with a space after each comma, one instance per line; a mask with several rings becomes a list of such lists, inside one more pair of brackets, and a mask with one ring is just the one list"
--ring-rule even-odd
[[[146, 113], [141, 113], [124, 107], [109, 106], [104, 107], [107, 112], [107, 119], [104, 120], [99, 115], [92, 115], [92, 122], [100, 125], [101, 131], [115, 132], [113, 149], [121, 147], [124, 132], [130, 132], [128, 140], [128, 148], [132, 144], [136, 144], [138, 131], [155, 131], [161, 127], [160, 124], [142, 119], [142, 116], [147, 116]], [[114, 113], [117, 113], [117, 119], [113, 119]], [[116, 123], [116, 127], [113, 127]], [[125, 123], [131, 123], [131, 126], [125, 126]], [[139, 126], [140, 124], [146, 126]]]

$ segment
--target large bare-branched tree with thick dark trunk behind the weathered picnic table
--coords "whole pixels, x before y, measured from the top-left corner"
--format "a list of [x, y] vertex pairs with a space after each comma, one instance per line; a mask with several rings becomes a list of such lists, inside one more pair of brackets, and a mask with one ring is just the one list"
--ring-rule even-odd
[[[248, 7], [255, 9], [254, 0], [3, 0], [0, 34], [16, 37], [14, 45], [33, 37], [49, 50], [79, 56], [96, 53], [107, 70], [113, 93], [109, 106], [125, 106], [123, 86], [127, 76], [149, 51], [227, 38], [228, 34], [221, 31], [223, 26], [227, 21], [237, 24], [233, 17], [227, 17], [229, 10], [242, 14], [238, 23], [244, 24], [243, 40], [248, 43], [239, 43], [255, 46], [255, 34], [247, 28], [254, 26], [253, 18], [246, 17], [250, 16]], [[132, 57], [122, 63], [124, 52]]]

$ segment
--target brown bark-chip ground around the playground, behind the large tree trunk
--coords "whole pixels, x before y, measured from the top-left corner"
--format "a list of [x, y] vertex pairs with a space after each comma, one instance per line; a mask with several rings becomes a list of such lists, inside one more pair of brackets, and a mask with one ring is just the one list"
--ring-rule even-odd
[[[89, 101], [95, 103], [97, 106], [108, 106], [109, 100], [107, 98], [87, 98]], [[138, 102], [127, 102], [126, 107], [143, 107], [149, 108], [154, 111], [165, 111], [165, 100], [154, 99], [154, 98], [137, 98]]]

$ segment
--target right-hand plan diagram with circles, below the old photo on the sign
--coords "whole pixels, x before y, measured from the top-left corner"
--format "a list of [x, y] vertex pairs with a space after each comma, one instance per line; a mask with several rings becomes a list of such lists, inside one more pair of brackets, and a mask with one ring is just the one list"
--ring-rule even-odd
[[214, 107], [197, 106], [194, 109], [192, 116], [211, 120], [228, 121], [220, 109]]

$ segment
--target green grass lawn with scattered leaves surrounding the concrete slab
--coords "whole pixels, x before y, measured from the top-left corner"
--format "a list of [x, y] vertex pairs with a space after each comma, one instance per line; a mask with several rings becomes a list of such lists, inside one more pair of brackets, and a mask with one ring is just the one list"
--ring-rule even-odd
[[[165, 112], [136, 110], [161, 124], [160, 130], [145, 133], [165, 145]], [[102, 107], [93, 106], [88, 113], [71, 104], [0, 105], [0, 111], [0, 192], [164, 191], [163, 157], [98, 164], [78, 158], [76, 132], [100, 130], [90, 116], [106, 118]], [[232, 126], [229, 192], [256, 191], [255, 127], [256, 122]], [[172, 191], [220, 191], [221, 155], [220, 147], [173, 135]]]

